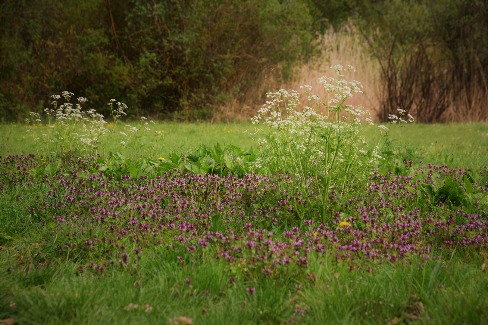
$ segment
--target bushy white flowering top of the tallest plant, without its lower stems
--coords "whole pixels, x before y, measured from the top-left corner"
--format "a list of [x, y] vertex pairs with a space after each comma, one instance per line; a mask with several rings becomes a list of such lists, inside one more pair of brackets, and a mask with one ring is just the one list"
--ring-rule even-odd
[[[344, 105], [353, 94], [362, 93], [363, 86], [356, 80], [347, 82], [342, 66], [331, 68], [337, 77], [321, 77], [318, 81], [325, 90], [325, 99], [311, 94], [311, 86], [301, 86], [308, 100], [303, 107], [297, 91], [280, 89], [267, 93], [269, 99], [251, 118], [252, 124], [259, 127], [250, 135], [259, 146], [268, 144], [275, 159], [272, 164], [299, 172], [306, 169], [304, 165], [326, 164], [325, 170], [330, 171], [335, 163], [345, 162], [345, 154], [349, 155], [351, 150], [356, 157], [366, 155], [361, 150], [366, 141], [359, 133], [363, 118], [366, 125], [374, 125], [367, 118], [369, 112], [361, 105]], [[347, 73], [352, 71], [350, 66]], [[258, 137], [263, 134], [266, 138]], [[360, 159], [357, 160], [360, 164]]]

